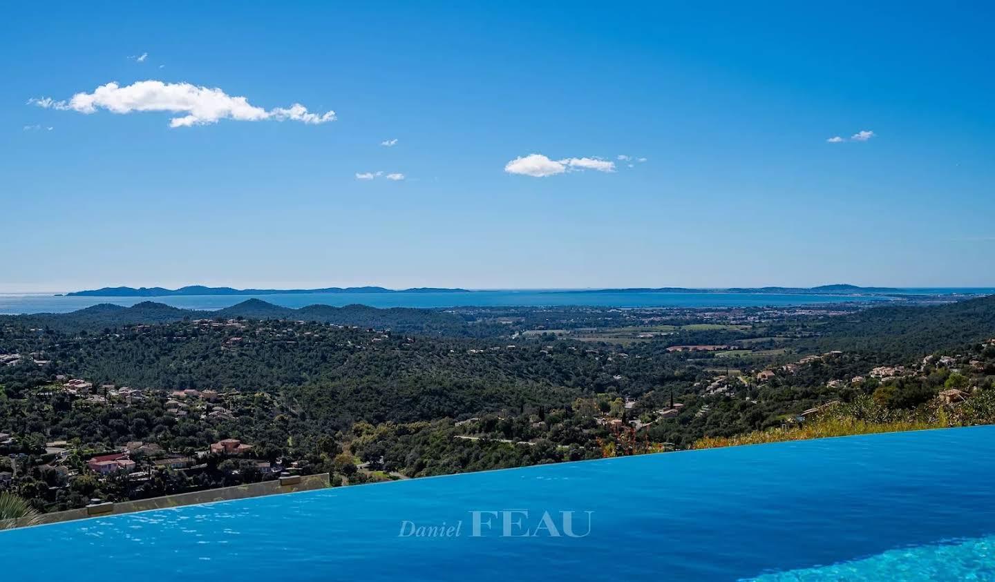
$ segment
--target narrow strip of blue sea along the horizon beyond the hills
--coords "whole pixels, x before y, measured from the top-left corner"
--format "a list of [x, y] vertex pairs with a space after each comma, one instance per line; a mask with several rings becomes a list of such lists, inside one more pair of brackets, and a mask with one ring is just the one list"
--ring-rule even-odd
[[285, 307], [313, 304], [342, 306], [363, 304], [372, 307], [460, 307], [460, 306], [563, 306], [603, 307], [759, 307], [901, 300], [909, 295], [942, 295], [956, 299], [995, 293], [995, 289], [944, 288], [904, 289], [890, 296], [878, 294], [794, 294], [730, 292], [654, 291], [445, 291], [445, 292], [348, 292], [286, 293], [260, 295], [170, 295], [151, 297], [65, 296], [53, 293], [0, 293], [0, 314], [65, 313], [100, 303], [129, 306], [155, 301], [187, 309], [222, 309], [246, 299], [258, 298]]

